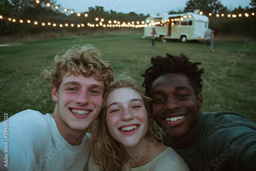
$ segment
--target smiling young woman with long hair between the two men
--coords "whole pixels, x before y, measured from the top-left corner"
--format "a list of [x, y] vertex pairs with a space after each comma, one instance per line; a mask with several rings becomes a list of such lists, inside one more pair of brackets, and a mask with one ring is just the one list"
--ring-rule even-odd
[[131, 78], [111, 84], [94, 124], [89, 170], [188, 170], [174, 149], [161, 143], [150, 104]]

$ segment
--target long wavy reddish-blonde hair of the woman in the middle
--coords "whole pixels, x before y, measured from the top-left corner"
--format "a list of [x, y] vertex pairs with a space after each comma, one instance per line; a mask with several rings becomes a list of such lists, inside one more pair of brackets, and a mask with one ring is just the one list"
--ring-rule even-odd
[[148, 117], [148, 130], [145, 137], [152, 141], [161, 142], [161, 136], [156, 129], [154, 117], [150, 113], [151, 98], [145, 96], [141, 88], [131, 78], [114, 81], [104, 93], [102, 111], [93, 125], [93, 158], [94, 163], [99, 166], [100, 170], [123, 170], [126, 161], [118, 142], [111, 136], [106, 123], [106, 98], [112, 91], [119, 88], [131, 88], [141, 95]]

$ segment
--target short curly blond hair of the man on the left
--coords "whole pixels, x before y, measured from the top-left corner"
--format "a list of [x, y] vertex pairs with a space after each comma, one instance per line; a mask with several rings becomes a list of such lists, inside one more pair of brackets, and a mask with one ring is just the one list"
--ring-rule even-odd
[[[109, 61], [100, 59], [101, 53], [90, 44], [73, 46], [63, 56], [55, 56], [55, 68], [44, 70], [44, 76], [48, 83], [58, 91], [63, 75], [83, 74], [84, 76], [95, 75], [96, 80], [103, 80], [107, 87], [114, 80], [113, 68]], [[85, 70], [83, 70], [85, 69]]]

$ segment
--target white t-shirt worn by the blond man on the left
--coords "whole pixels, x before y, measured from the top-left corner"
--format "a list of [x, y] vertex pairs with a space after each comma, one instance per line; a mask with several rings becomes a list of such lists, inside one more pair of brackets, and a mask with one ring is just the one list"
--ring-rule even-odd
[[[0, 139], [3, 153], [4, 122], [0, 123]], [[8, 119], [8, 139], [7, 168], [11, 171], [83, 170], [92, 152], [91, 134], [87, 133], [80, 145], [73, 146], [60, 135], [51, 114], [33, 110]]]

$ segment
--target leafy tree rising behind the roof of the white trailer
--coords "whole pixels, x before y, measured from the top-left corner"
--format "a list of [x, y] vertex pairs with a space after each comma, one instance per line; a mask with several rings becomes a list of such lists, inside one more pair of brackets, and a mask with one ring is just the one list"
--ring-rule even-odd
[[189, 0], [184, 9], [185, 12], [194, 12], [199, 9], [204, 13], [224, 13], [227, 7], [224, 7], [219, 0]]

